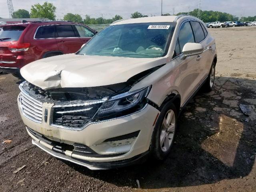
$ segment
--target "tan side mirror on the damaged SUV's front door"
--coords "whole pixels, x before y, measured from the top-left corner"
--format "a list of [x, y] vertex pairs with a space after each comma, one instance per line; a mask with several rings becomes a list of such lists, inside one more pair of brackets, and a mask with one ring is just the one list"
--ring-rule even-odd
[[186, 43], [183, 47], [180, 59], [184, 60], [189, 56], [199, 55], [204, 51], [204, 47], [199, 43]]

